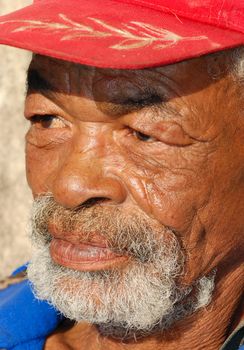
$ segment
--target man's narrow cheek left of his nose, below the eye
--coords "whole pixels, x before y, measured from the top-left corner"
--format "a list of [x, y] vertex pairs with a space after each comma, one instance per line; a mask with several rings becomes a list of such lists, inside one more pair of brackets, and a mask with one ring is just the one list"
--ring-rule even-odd
[[59, 153], [39, 149], [32, 145], [26, 147], [26, 176], [28, 184], [36, 196], [49, 192], [49, 183], [59, 163]]

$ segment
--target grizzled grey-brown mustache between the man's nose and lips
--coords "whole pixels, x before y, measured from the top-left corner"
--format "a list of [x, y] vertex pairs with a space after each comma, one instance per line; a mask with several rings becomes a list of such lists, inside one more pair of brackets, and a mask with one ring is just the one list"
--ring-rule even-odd
[[144, 212], [128, 215], [119, 208], [100, 206], [97, 202], [67, 209], [51, 195], [40, 196], [33, 203], [32, 241], [42, 244], [51, 242], [52, 236], [48, 230], [50, 222], [62, 232], [80, 235], [80, 242], [89, 241], [91, 232], [97, 231], [107, 240], [113, 252], [132, 256], [141, 262], [154, 260], [160, 245], [167, 245], [166, 238], [174, 235], [171, 229], [155, 224]]

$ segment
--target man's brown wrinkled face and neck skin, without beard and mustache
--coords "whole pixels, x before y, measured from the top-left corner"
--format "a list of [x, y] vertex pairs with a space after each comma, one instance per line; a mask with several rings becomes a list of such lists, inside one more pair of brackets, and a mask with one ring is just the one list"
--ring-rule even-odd
[[140, 208], [178, 232], [187, 256], [178, 283], [218, 271], [211, 305], [163, 336], [122, 344], [78, 324], [51, 335], [46, 349], [215, 350], [240, 321], [244, 116], [229, 63], [227, 53], [123, 71], [33, 58], [25, 107], [33, 195], [51, 192], [67, 208], [94, 198], [125, 214]]

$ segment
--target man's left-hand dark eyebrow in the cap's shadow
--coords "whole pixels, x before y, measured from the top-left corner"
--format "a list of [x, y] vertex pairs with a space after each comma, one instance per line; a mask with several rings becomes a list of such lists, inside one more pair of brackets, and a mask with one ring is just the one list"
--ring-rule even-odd
[[30, 92], [42, 94], [55, 93], [55, 89], [36, 69], [28, 69], [26, 78], [26, 95]]

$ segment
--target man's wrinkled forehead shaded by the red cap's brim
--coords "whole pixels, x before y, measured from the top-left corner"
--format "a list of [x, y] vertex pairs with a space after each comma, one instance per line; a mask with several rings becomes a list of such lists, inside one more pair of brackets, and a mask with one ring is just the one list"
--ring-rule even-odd
[[[55, 92], [87, 96], [159, 93], [165, 87], [184, 90], [183, 94], [199, 91], [227, 72], [228, 54], [220, 52], [179, 63], [139, 70], [104, 69], [33, 55], [29, 67], [29, 88], [40, 87]], [[180, 93], [180, 91], [179, 91]]]

